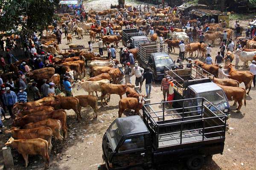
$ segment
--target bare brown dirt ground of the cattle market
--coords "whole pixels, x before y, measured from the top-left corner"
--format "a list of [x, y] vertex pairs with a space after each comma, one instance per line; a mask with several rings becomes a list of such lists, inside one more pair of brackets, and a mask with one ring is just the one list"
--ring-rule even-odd
[[[96, 1], [95, 1], [96, 2]], [[109, 1], [110, 2], [110, 1]], [[108, 2], [108, 3], [109, 3]], [[92, 6], [92, 1], [88, 2], [88, 8]], [[114, 4], [114, 3], [113, 3]], [[99, 6], [99, 3], [97, 3]], [[98, 40], [99, 37], [96, 38]], [[73, 34], [72, 44], [82, 45], [86, 47], [89, 36], [84, 36], [84, 39], [77, 38]], [[209, 42], [208, 42], [209, 43]], [[217, 52], [219, 51], [219, 40], [215, 42], [215, 47], [212, 48], [212, 57], [215, 59]], [[122, 45], [119, 42], [119, 45]], [[97, 43], [93, 43], [93, 47], [97, 47]], [[59, 45], [60, 49], [68, 48], [67, 39], [62, 37], [62, 44]], [[98, 50], [93, 49], [98, 52]], [[177, 60], [176, 53], [170, 54], [173, 60]], [[119, 57], [119, 48], [116, 49], [117, 56]], [[106, 51], [104, 51], [106, 54]], [[195, 54], [194, 54], [195, 55]], [[198, 58], [192, 58], [197, 60]], [[234, 63], [235, 61], [233, 61]], [[242, 63], [240, 62], [239, 65]], [[248, 69], [244, 69], [248, 70]], [[88, 73], [88, 70], [87, 70]], [[88, 74], [84, 79], [88, 78]], [[135, 78], [132, 77], [132, 83], [135, 82]], [[244, 87], [244, 84], [241, 84]], [[142, 93], [145, 94], [145, 83], [143, 84]], [[73, 91], [74, 96], [85, 95], [87, 92], [83, 90]], [[99, 93], [98, 93], [99, 94]], [[99, 94], [100, 96], [100, 94]], [[123, 97], [126, 97], [123, 95]], [[153, 84], [151, 90], [151, 103], [160, 102], [162, 100], [162, 93], [160, 91], [160, 82]], [[226, 142], [223, 155], [213, 156], [211, 165], [206, 165], [202, 170], [255, 170], [256, 169], [256, 116], [255, 108], [253, 105], [256, 100], [256, 88], [252, 88], [250, 95], [246, 96], [247, 105], [243, 105], [241, 113], [236, 113], [235, 107], [232, 106], [231, 118], [228, 119], [229, 130], [226, 133]], [[67, 111], [67, 125], [68, 125], [68, 137], [63, 143], [52, 141], [53, 149], [50, 154], [51, 166], [49, 170], [96, 170], [102, 161], [102, 136], [105, 130], [118, 117], [118, 95], [111, 95], [111, 101], [109, 105], [104, 107], [100, 106], [100, 100], [98, 101], [99, 116], [98, 120], [93, 120], [93, 109], [82, 108], [83, 119], [81, 123], [76, 121], [76, 116], [73, 111]], [[230, 102], [233, 105], [233, 102]], [[6, 129], [9, 129], [10, 119], [3, 122]], [[9, 135], [0, 134], [0, 148], [3, 147], [4, 143], [9, 139]], [[13, 158], [15, 162], [15, 170], [23, 170], [24, 160], [17, 150], [13, 149]], [[186, 170], [185, 165], [174, 162], [174, 167], [177, 170]], [[3, 168], [3, 157], [0, 153], [0, 170]], [[44, 169], [44, 161], [40, 156], [29, 156], [28, 170], [41, 170]]]

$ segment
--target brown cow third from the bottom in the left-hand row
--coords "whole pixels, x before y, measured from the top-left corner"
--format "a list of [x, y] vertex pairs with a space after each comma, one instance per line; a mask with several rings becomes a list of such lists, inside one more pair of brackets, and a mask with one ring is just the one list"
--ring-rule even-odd
[[52, 136], [54, 136], [55, 140], [64, 140], [63, 136], [61, 136], [61, 121], [59, 120], [47, 119], [40, 122], [28, 123], [23, 129], [33, 129], [37, 127], [49, 127], [52, 129]]

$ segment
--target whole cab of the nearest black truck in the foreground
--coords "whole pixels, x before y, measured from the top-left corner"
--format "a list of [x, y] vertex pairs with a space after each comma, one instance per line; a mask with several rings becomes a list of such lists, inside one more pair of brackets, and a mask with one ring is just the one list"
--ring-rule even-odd
[[[146, 139], [146, 140], [145, 140]], [[143, 166], [148, 161], [149, 130], [140, 116], [116, 119], [102, 139], [102, 158], [108, 169]]]

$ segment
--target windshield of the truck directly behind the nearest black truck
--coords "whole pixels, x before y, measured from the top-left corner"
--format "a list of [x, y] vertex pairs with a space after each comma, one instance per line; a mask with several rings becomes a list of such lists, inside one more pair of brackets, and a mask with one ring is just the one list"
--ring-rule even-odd
[[198, 94], [198, 97], [204, 97], [212, 104], [226, 102], [226, 97], [222, 90], [200, 93]]

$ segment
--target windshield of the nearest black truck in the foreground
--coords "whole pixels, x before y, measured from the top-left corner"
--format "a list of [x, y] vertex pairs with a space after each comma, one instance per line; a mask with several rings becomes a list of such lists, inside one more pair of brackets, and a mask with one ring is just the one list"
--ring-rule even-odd
[[117, 127], [116, 122], [113, 122], [113, 124], [108, 128], [107, 136], [112, 150], [116, 150], [116, 146], [122, 138], [122, 134]]

